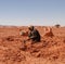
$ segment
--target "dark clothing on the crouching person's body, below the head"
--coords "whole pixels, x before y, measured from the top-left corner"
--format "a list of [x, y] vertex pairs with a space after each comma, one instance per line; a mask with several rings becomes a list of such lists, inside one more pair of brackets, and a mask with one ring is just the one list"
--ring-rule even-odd
[[37, 29], [30, 30], [30, 33], [28, 34], [28, 37], [32, 40], [32, 41], [40, 41], [40, 34]]

